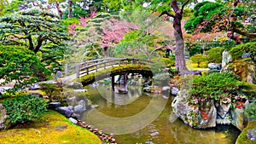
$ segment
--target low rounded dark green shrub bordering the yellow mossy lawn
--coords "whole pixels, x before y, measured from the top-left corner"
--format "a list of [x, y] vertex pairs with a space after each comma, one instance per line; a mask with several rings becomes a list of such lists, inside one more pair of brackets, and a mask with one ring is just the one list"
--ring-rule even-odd
[[47, 111], [46, 105], [44, 99], [32, 95], [19, 95], [3, 101], [12, 124], [26, 123], [32, 118], [39, 118], [40, 114]]

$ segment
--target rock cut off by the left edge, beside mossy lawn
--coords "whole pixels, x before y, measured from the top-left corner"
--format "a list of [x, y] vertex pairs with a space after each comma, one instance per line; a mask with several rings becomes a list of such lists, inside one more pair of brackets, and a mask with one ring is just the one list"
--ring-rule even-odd
[[0, 104], [0, 130], [8, 130], [11, 126], [10, 120], [7, 119], [6, 109]]

